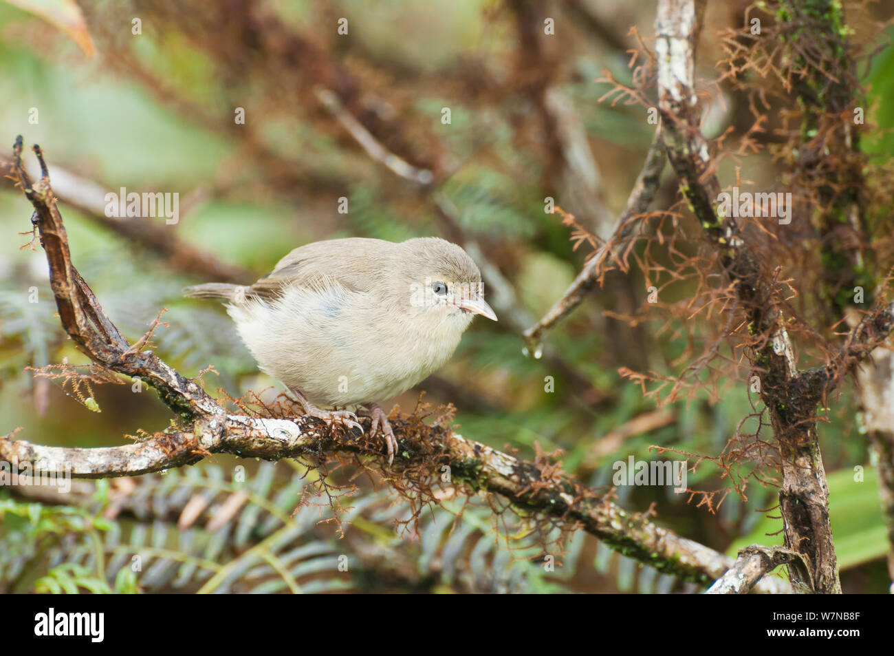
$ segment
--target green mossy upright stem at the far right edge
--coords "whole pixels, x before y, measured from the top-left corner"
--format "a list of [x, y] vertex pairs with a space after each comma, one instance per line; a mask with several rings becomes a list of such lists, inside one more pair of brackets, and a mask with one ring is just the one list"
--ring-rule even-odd
[[[781, 17], [776, 41], [787, 53], [780, 76], [791, 81], [797, 94], [800, 130], [789, 135], [789, 149], [797, 153], [789, 174], [792, 183], [808, 190], [814, 211], [811, 223], [818, 232], [822, 278], [819, 296], [827, 304], [831, 320], [856, 322], [859, 309], [851, 294], [864, 289], [865, 300], [881, 291], [877, 262], [881, 252], [873, 248], [873, 212], [867, 180], [872, 167], [862, 152], [860, 141], [864, 130], [852, 118], [853, 110], [863, 97], [856, 75], [856, 47], [847, 34], [838, 29], [846, 25], [845, 8], [841, 4], [816, 5], [805, 0], [789, 3]], [[850, 17], [853, 20], [853, 17]], [[764, 39], [762, 39], [764, 40]], [[797, 56], [793, 56], [795, 54]], [[801, 53], [808, 54], [803, 56]], [[795, 109], [794, 103], [792, 109]], [[887, 281], [886, 281], [887, 282]], [[852, 332], [835, 369], [827, 371], [824, 385], [855, 369], [873, 351], [873, 345], [890, 332], [891, 308], [864, 318]], [[868, 322], [867, 322], [868, 319]], [[873, 325], [874, 324], [874, 325]], [[868, 332], [868, 334], [867, 334]], [[873, 335], [875, 333], [875, 335]], [[856, 350], [853, 348], [856, 342]], [[864, 367], [856, 371], [857, 394], [865, 434], [875, 457], [879, 473], [879, 496], [891, 550], [888, 571], [894, 581], [894, 421], [890, 399], [894, 395], [894, 372], [889, 347], [879, 346]]]

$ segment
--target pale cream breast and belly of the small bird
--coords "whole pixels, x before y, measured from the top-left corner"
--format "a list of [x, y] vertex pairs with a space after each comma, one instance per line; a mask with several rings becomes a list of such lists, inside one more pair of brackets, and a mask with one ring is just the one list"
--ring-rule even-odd
[[337, 285], [295, 287], [278, 301], [231, 307], [230, 314], [262, 370], [330, 406], [401, 394], [451, 357], [468, 326], [461, 317], [388, 307]]

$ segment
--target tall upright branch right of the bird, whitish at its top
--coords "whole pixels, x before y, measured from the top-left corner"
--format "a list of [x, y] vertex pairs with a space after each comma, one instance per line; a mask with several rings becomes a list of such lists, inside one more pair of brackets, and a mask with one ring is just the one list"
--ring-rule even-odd
[[660, 0], [658, 4], [655, 51], [664, 141], [687, 200], [735, 285], [749, 332], [764, 340], [755, 347], [753, 357], [761, 378], [761, 398], [770, 411], [780, 448], [785, 546], [804, 553], [811, 564], [809, 579], [797, 568], [789, 567], [789, 575], [798, 587], [840, 593], [829, 487], [815, 426], [821, 390], [798, 377], [794, 349], [763, 263], [748, 248], [735, 219], [721, 216], [717, 209], [720, 184], [699, 129], [695, 90], [696, 43], [704, 5], [704, 0]]

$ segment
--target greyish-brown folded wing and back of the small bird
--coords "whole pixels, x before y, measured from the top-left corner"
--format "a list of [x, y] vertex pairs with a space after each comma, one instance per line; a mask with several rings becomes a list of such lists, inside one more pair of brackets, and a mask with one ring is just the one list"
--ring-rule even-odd
[[274, 270], [246, 289], [247, 296], [279, 297], [292, 285], [325, 291], [334, 285], [367, 292], [374, 283], [371, 272], [381, 267], [393, 244], [378, 239], [332, 239], [308, 243], [280, 260]]

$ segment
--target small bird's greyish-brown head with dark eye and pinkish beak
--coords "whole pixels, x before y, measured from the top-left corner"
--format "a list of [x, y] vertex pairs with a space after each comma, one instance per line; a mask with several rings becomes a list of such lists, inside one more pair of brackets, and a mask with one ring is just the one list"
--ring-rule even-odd
[[396, 266], [409, 293], [414, 314], [468, 326], [476, 314], [497, 320], [485, 302], [477, 264], [455, 243], [436, 237], [401, 243]]

